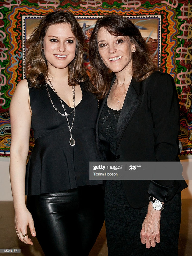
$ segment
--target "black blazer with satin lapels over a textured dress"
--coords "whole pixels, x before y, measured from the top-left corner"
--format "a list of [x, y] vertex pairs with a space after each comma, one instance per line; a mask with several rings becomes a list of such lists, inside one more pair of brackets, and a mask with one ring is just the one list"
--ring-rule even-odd
[[[172, 76], [155, 71], [143, 82], [132, 78], [117, 124], [116, 156], [98, 131], [106, 100], [101, 103], [96, 126], [96, 144], [103, 161], [179, 161], [179, 104]], [[122, 184], [134, 208], [147, 205], [149, 195], [166, 202], [187, 187], [184, 180], [122, 180]]]

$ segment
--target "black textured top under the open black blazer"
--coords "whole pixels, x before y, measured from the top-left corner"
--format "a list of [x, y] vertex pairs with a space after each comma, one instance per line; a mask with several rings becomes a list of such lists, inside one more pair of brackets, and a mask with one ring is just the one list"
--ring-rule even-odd
[[121, 113], [107, 106], [107, 101], [99, 119], [99, 132], [109, 141], [111, 152], [116, 155], [117, 123]]

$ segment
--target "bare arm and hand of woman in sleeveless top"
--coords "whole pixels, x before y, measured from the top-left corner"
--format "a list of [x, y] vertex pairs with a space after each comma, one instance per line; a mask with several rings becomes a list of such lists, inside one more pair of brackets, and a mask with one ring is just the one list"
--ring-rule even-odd
[[26, 79], [16, 86], [10, 104], [10, 120], [10, 180], [15, 209], [15, 228], [21, 241], [25, 244], [33, 244], [28, 236], [22, 237], [22, 234], [27, 233], [27, 226], [32, 236], [36, 235], [31, 213], [25, 204], [25, 171], [31, 127], [29, 89]]

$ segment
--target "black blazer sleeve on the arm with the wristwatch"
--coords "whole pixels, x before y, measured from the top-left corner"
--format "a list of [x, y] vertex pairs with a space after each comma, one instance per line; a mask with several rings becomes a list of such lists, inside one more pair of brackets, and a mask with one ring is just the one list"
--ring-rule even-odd
[[[150, 110], [153, 119], [155, 157], [157, 161], [179, 161], [178, 134], [179, 103], [174, 79], [169, 74], [159, 72], [153, 76], [150, 93]], [[167, 172], [177, 173], [182, 178], [182, 165], [178, 163], [174, 170], [167, 167]], [[163, 173], [166, 173], [166, 165]], [[174, 176], [174, 175], [173, 175]], [[175, 175], [176, 176], [176, 175]], [[151, 180], [148, 193], [162, 202], [170, 200], [181, 186], [180, 180]]]

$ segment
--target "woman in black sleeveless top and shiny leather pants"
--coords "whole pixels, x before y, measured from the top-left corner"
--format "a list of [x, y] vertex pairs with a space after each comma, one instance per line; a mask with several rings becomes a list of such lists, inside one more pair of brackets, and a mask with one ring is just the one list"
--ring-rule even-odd
[[[33, 244], [29, 226], [45, 255], [88, 255], [103, 225], [102, 184], [89, 180], [89, 161], [100, 161], [98, 106], [86, 90], [83, 42], [71, 12], [45, 15], [25, 43], [27, 79], [10, 105], [15, 228]], [[35, 146], [26, 169], [31, 126]]]

